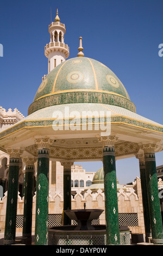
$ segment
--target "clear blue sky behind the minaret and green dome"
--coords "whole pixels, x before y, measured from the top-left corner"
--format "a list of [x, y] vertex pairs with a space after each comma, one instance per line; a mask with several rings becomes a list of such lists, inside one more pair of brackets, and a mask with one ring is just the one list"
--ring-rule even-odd
[[[136, 112], [163, 124], [163, 57], [158, 54], [163, 44], [162, 0], [1, 0], [0, 106], [16, 107], [27, 116], [47, 74], [44, 47], [50, 40], [51, 10], [54, 21], [57, 7], [66, 25], [69, 58], [77, 56], [82, 36], [85, 56], [99, 60], [120, 78]], [[157, 166], [163, 164], [162, 156], [156, 153]], [[87, 171], [101, 166], [102, 162], [83, 163]], [[118, 160], [116, 169], [121, 184], [140, 176], [135, 158]]]

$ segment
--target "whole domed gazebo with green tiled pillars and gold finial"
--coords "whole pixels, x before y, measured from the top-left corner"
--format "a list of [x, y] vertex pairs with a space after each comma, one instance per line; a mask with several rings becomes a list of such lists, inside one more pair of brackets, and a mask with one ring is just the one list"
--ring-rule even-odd
[[[163, 148], [163, 125], [137, 114], [114, 72], [82, 51], [80, 38], [78, 57], [50, 71], [28, 116], [0, 133], [1, 149], [10, 155], [4, 245], [15, 241], [20, 159], [26, 164], [23, 236], [32, 235], [35, 162], [35, 245], [47, 245], [49, 160], [64, 166], [63, 210], [71, 209], [73, 163], [103, 161], [107, 244], [119, 245], [116, 160], [133, 156], [140, 162], [146, 237], [163, 244], [155, 164], [155, 153]], [[64, 224], [70, 224], [65, 215]]]

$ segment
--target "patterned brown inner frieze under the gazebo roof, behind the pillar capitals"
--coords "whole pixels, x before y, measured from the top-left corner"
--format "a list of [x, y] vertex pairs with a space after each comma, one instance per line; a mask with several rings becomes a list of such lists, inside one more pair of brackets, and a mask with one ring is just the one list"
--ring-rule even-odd
[[[77, 143], [76, 143], [77, 142]], [[72, 160], [93, 160], [103, 159], [103, 144], [102, 141], [99, 141], [97, 139], [92, 139], [92, 141], [84, 140], [84, 144], [88, 144], [87, 147], [82, 144], [83, 140], [78, 139], [77, 141], [68, 139], [60, 140], [60, 145], [54, 145], [51, 144], [49, 148], [49, 156], [56, 161], [72, 161]], [[95, 143], [96, 142], [96, 143]], [[112, 143], [112, 142], [111, 142]], [[63, 144], [63, 145], [61, 145]], [[81, 147], [75, 147], [74, 145], [81, 144]], [[106, 144], [108, 144], [106, 142]], [[66, 146], [67, 145], [67, 146]], [[71, 145], [68, 146], [68, 145]], [[73, 145], [73, 146], [72, 146]], [[37, 145], [32, 145], [30, 147], [27, 147], [26, 150], [36, 156], [37, 155]], [[135, 155], [139, 151], [140, 147], [137, 143], [133, 142], [120, 142], [115, 144], [115, 155], [123, 156], [123, 155]]]

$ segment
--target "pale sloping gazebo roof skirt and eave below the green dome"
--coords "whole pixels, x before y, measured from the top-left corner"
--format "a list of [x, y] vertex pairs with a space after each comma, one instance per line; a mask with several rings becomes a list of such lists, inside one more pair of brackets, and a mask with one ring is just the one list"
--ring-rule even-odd
[[[65, 107], [68, 111], [66, 113]], [[87, 112], [87, 117], [82, 119], [84, 111], [90, 112]], [[76, 125], [72, 122], [74, 121], [72, 113], [78, 114]], [[97, 119], [89, 118], [89, 113], [103, 113], [103, 115], [97, 122]], [[106, 119], [107, 113], [110, 114], [109, 119]], [[60, 126], [58, 126], [58, 130], [54, 130], [53, 126], [57, 114], [59, 114], [58, 123]], [[86, 130], [82, 130], [82, 121], [87, 124]], [[88, 129], [88, 124], [92, 125], [92, 130]], [[97, 124], [99, 129], [95, 130]], [[160, 142], [162, 140], [163, 125], [128, 109], [99, 103], [76, 103], [46, 107], [28, 115], [0, 133], [0, 146], [28, 147], [34, 144], [34, 138], [39, 136], [55, 138], [58, 141], [61, 139], [96, 138], [97, 135], [103, 132], [101, 125], [107, 124], [111, 124], [111, 132], [114, 131], [117, 134], [118, 142], [151, 143], [152, 141]], [[61, 126], [62, 129], [60, 129]], [[79, 129], [77, 129], [77, 126]]]

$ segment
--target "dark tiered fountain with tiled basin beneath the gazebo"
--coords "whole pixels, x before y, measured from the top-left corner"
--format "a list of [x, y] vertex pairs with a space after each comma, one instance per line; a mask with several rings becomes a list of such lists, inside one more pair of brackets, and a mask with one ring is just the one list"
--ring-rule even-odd
[[[48, 230], [48, 245], [106, 245], [106, 225], [92, 224], [104, 210], [65, 210], [65, 214], [77, 225], [61, 225]], [[129, 228], [120, 227], [122, 244], [130, 244]], [[125, 243], [124, 243], [125, 241]]]

